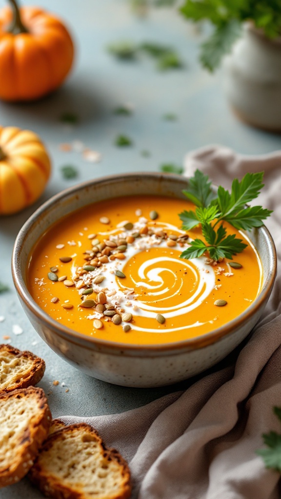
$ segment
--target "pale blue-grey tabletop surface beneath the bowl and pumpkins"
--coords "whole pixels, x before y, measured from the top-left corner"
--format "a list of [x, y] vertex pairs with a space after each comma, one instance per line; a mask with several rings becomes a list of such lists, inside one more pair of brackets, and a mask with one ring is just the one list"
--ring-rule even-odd
[[[59, 14], [68, 24], [77, 46], [75, 67], [64, 86], [46, 99], [32, 104], [0, 103], [0, 123], [30, 128], [45, 142], [53, 163], [48, 187], [38, 203], [22, 213], [0, 219], [0, 281], [10, 291], [0, 294], [0, 342], [9, 335], [12, 345], [29, 349], [46, 362], [39, 384], [46, 393], [54, 417], [75, 414], [93, 416], [121, 412], [143, 405], [176, 387], [129, 389], [108, 385], [83, 375], [57, 357], [29, 324], [13, 289], [10, 257], [16, 234], [28, 216], [44, 200], [78, 181], [130, 171], [155, 171], [163, 162], [182, 164], [184, 154], [200, 146], [219, 143], [238, 152], [261, 154], [280, 148], [280, 136], [240, 123], [229, 111], [221, 91], [221, 74], [209, 75], [196, 59], [200, 35], [169, 9], [150, 12], [140, 19], [131, 14], [124, 0], [36, 1]], [[0, 6], [4, 2], [0, 1]], [[177, 48], [185, 68], [157, 72], [147, 58], [135, 62], [113, 59], [105, 46], [115, 40], [156, 41]], [[130, 102], [131, 117], [116, 116], [112, 110]], [[58, 120], [64, 111], [79, 115], [79, 124], [68, 127]], [[177, 121], [162, 119], [175, 113]], [[133, 140], [133, 147], [113, 145], [118, 134]], [[100, 152], [102, 161], [90, 163], [80, 153], [62, 152], [60, 143], [82, 141]], [[149, 158], [141, 150], [151, 153]], [[59, 168], [73, 164], [79, 178], [63, 180]], [[12, 325], [23, 332], [14, 335]], [[53, 386], [52, 381], [60, 384]], [[61, 386], [65, 383], [65, 387]], [[180, 387], [184, 387], [181, 384]], [[69, 392], [65, 393], [65, 389]], [[42, 497], [27, 483], [0, 491], [0, 499]]]

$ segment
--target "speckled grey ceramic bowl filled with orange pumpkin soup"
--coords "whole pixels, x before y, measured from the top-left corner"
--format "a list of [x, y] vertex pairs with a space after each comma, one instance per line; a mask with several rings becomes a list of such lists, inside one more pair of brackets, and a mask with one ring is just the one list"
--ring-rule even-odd
[[126, 174], [92, 180], [44, 203], [20, 230], [14, 284], [30, 322], [64, 360], [131, 387], [172, 384], [211, 367], [260, 317], [276, 255], [263, 226], [227, 225], [247, 245], [215, 262], [180, 254], [199, 236], [188, 179]]

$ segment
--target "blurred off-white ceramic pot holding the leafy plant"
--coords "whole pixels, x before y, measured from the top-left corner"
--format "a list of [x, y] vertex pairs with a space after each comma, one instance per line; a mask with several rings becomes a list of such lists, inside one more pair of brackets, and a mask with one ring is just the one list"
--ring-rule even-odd
[[266, 38], [250, 23], [224, 61], [224, 91], [243, 121], [281, 131], [281, 37]]

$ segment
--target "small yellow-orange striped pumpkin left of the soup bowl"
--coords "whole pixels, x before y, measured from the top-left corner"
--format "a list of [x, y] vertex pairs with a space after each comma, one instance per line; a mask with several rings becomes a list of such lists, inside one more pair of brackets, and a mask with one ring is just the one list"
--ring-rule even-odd
[[0, 215], [31, 205], [42, 194], [49, 174], [49, 157], [35, 133], [0, 127]]

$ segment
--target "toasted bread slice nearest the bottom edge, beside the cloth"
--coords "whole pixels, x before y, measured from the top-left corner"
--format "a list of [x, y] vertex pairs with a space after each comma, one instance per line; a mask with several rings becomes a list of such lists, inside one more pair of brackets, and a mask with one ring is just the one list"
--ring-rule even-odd
[[80, 423], [52, 433], [29, 472], [31, 482], [54, 499], [128, 499], [128, 465]]

